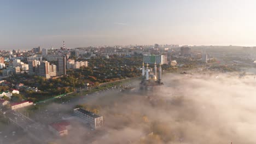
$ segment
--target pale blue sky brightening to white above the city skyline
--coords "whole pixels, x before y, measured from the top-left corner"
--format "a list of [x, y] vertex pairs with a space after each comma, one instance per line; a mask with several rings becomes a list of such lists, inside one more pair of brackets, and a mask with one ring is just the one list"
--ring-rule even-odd
[[254, 0], [0, 0], [0, 50], [103, 45], [256, 46]]

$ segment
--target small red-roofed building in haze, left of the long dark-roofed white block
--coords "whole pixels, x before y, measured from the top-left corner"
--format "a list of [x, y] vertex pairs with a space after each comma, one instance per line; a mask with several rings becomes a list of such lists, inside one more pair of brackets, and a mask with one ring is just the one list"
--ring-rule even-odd
[[57, 136], [68, 135], [68, 130], [71, 129], [71, 125], [67, 121], [51, 123], [48, 125], [48, 127], [49, 127], [49, 130], [53, 131], [53, 133]]

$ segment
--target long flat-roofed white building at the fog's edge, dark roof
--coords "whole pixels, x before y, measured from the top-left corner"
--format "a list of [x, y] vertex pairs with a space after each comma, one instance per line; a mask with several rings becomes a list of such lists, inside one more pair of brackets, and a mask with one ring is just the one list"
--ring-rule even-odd
[[74, 114], [83, 119], [84, 123], [90, 125], [91, 128], [98, 128], [103, 125], [103, 117], [96, 115], [93, 112], [86, 111], [82, 108], [74, 109]]

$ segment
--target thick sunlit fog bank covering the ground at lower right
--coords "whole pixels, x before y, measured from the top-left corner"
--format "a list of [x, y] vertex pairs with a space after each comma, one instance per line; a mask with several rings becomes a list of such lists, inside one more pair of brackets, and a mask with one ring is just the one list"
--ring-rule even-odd
[[74, 129], [72, 140], [56, 142], [256, 143], [256, 80], [239, 77], [166, 74], [165, 85], [147, 95], [102, 92], [86, 104], [100, 107], [104, 127], [84, 138], [86, 130]]

